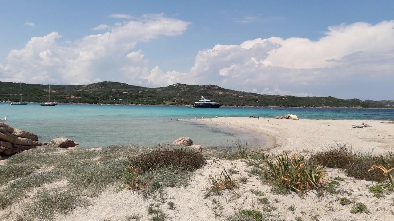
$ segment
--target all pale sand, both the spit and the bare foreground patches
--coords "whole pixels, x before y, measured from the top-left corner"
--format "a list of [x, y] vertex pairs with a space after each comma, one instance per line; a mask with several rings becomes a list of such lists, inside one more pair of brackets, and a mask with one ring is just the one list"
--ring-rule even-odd
[[[259, 133], [268, 138], [264, 148], [279, 153], [283, 150], [289, 152], [311, 152], [320, 151], [325, 145], [333, 142], [351, 143], [353, 148], [360, 148], [364, 151], [374, 151], [381, 153], [392, 150], [394, 147], [394, 124], [380, 123], [381, 121], [357, 121], [357, 120], [282, 120], [260, 118], [212, 118], [200, 119], [204, 122], [212, 122], [242, 127]], [[351, 128], [353, 124], [367, 123], [371, 127]], [[204, 155], [209, 154], [208, 152]], [[227, 170], [233, 168], [238, 171], [234, 179], [246, 177], [247, 182], [239, 183], [234, 190], [225, 190], [222, 195], [205, 198], [206, 188], [210, 186], [208, 177], [219, 175], [223, 168]], [[168, 193], [168, 200], [175, 203], [174, 209], [169, 209], [167, 203], [162, 203], [154, 199], [144, 200], [142, 196], [133, 194], [130, 190], [108, 188], [99, 194], [97, 198], [92, 198], [91, 205], [77, 207], [71, 214], [58, 214], [57, 221], [123, 221], [134, 220], [130, 217], [138, 215], [139, 221], [150, 221], [152, 215], [148, 214], [147, 207], [150, 204], [158, 205], [158, 208], [165, 211], [165, 220], [173, 221], [224, 221], [226, 217], [243, 209], [253, 209], [264, 211], [267, 205], [259, 202], [263, 197], [275, 210], [269, 212], [273, 220], [294, 221], [299, 220], [319, 220], [319, 221], [345, 221], [345, 220], [377, 220], [387, 221], [394, 219], [394, 193], [385, 195], [383, 198], [374, 197], [368, 189], [377, 182], [358, 180], [348, 177], [340, 169], [327, 168], [327, 173], [331, 180], [334, 177], [342, 177], [336, 195], [319, 197], [316, 191], [310, 191], [305, 195], [278, 195], [272, 192], [271, 186], [265, 184], [256, 176], [247, 171], [252, 167], [243, 160], [219, 160], [213, 162], [207, 160], [201, 169], [197, 169], [191, 177], [190, 184], [185, 188], [164, 188]], [[67, 182], [59, 180], [45, 187], [57, 186], [62, 188]], [[38, 189], [38, 188], [37, 188]], [[35, 189], [26, 198], [30, 201]], [[41, 188], [42, 189], [42, 188]], [[260, 191], [264, 195], [257, 196], [250, 190]], [[366, 205], [370, 213], [352, 214], [350, 210], [354, 204], [341, 205], [338, 201], [340, 197], [347, 197], [354, 202], [361, 202]], [[12, 215], [4, 220], [13, 221], [15, 215], [23, 208], [22, 201], [8, 208], [13, 211]], [[289, 206], [294, 206], [294, 211], [290, 211]], [[282, 219], [281, 219], [282, 218]], [[296, 219], [297, 218], [297, 219]]]

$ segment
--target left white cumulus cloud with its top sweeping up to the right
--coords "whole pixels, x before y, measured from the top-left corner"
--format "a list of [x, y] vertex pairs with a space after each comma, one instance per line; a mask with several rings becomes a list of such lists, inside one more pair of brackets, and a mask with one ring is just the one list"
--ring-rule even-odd
[[181, 35], [188, 25], [179, 19], [154, 15], [115, 24], [105, 33], [86, 35], [71, 44], [59, 41], [61, 35], [57, 32], [33, 37], [24, 48], [9, 52], [6, 64], [0, 64], [0, 80], [71, 84], [123, 81], [121, 69], [130, 62], [125, 54], [138, 42]]

